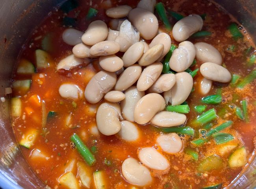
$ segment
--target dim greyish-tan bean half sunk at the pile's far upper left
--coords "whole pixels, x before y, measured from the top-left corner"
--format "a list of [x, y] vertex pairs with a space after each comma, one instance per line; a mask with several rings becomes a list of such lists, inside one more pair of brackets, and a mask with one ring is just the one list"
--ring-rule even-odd
[[76, 44], [82, 43], [83, 32], [74, 28], [68, 28], [63, 31], [62, 39], [65, 43], [74, 46]]

